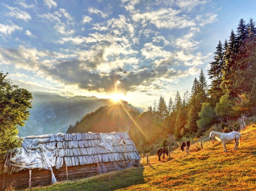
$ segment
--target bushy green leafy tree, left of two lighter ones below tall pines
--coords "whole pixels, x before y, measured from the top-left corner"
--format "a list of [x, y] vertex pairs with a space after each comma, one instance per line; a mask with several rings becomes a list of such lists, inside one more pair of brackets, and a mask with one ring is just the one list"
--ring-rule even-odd
[[202, 104], [201, 111], [198, 113], [199, 120], [196, 121], [198, 126], [197, 137], [202, 135], [209, 125], [212, 124], [216, 113], [214, 109], [211, 107], [210, 103], [204, 102]]

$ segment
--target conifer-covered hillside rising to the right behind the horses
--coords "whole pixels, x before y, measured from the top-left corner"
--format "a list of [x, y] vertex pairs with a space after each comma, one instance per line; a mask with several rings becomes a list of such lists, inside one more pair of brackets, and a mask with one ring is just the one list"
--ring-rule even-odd
[[[176, 140], [199, 137], [212, 124], [221, 122], [223, 131], [229, 132], [236, 124], [230, 120], [255, 114], [256, 88], [256, 28], [253, 19], [246, 24], [240, 19], [236, 32], [232, 29], [228, 40], [218, 42], [214, 61], [210, 63], [207, 84], [201, 69], [190, 93], [176, 92], [175, 99], [166, 103], [161, 96], [158, 105], [136, 118], [130, 135], [138, 149], [174, 134]], [[253, 88], [254, 87], [254, 88]]]

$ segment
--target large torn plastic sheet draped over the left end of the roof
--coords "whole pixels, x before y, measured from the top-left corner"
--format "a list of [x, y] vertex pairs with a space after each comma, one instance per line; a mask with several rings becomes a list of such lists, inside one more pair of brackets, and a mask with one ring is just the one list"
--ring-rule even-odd
[[45, 136], [45, 138], [33, 138], [33, 136], [23, 138], [22, 147], [17, 148], [11, 154], [11, 165], [20, 168], [44, 168], [52, 172], [52, 183], [57, 180], [53, 174], [52, 167], [55, 166], [55, 147], [49, 147], [43, 144], [53, 141], [53, 136]]

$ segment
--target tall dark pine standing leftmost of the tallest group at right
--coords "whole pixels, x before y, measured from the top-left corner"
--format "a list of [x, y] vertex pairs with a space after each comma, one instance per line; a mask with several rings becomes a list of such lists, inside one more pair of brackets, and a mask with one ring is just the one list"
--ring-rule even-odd
[[219, 44], [216, 47], [216, 52], [214, 53], [214, 62], [210, 62], [210, 65], [211, 68], [208, 70], [208, 75], [212, 81], [208, 94], [210, 96], [211, 105], [215, 105], [215, 103], [219, 102], [220, 97], [223, 95], [223, 90], [220, 87], [222, 70], [224, 66], [223, 47], [221, 41], [219, 41]]

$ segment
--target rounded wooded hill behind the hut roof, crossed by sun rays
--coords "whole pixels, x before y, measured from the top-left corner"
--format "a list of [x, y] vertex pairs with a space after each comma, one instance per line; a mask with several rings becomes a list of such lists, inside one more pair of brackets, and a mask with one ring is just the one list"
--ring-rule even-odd
[[74, 126], [70, 126], [67, 133], [126, 132], [139, 114], [139, 111], [123, 105], [103, 106], [86, 114]]

